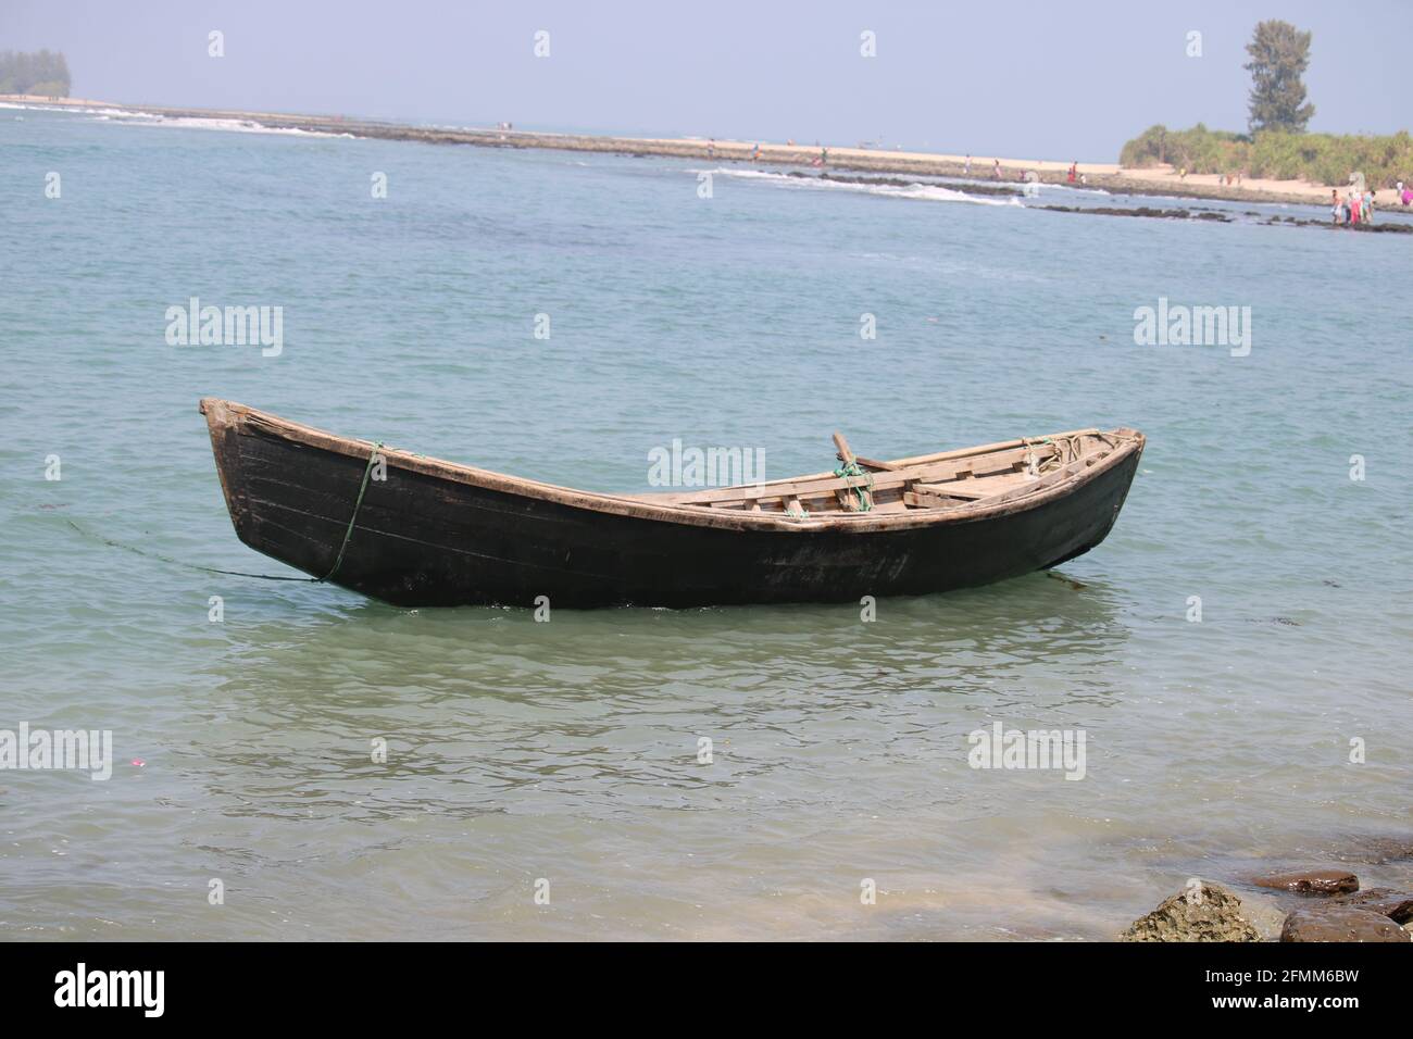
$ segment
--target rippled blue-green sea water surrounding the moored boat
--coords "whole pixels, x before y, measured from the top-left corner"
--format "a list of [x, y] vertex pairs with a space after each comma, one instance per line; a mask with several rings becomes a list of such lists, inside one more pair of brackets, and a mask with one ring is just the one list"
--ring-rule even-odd
[[[117, 759], [0, 772], [4, 937], [1102, 939], [1413, 833], [1406, 236], [706, 170], [0, 109], [0, 729]], [[191, 297], [283, 307], [283, 352], [170, 346]], [[1135, 345], [1160, 297], [1251, 307], [1249, 356]], [[605, 491], [674, 438], [1149, 447], [1068, 581], [536, 623], [69, 526], [288, 573], [208, 394]], [[1082, 729], [1085, 777], [968, 768], [993, 721]]]

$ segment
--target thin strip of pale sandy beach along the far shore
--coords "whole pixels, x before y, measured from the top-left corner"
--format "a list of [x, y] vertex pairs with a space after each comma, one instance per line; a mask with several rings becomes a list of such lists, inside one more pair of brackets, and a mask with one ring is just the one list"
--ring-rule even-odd
[[[482, 147], [555, 148], [564, 151], [601, 151], [627, 155], [670, 155], [706, 161], [757, 163], [773, 165], [810, 165], [828, 153], [829, 170], [858, 172], [911, 174], [920, 177], [972, 177], [991, 180], [993, 163], [1000, 164], [1000, 181], [1016, 182], [1034, 172], [1044, 184], [1065, 184], [1070, 163], [1065, 160], [950, 155], [923, 151], [887, 151], [834, 144], [804, 144], [796, 141], [739, 141], [702, 137], [616, 137], [598, 134], [561, 134], [526, 130], [468, 129], [414, 126], [380, 120], [349, 119], [345, 116], [312, 116], [278, 112], [243, 112], [233, 109], [188, 109], [158, 105], [120, 105], [81, 98], [32, 98], [0, 95], [0, 102], [16, 105], [54, 105], [76, 109], [113, 109], [144, 112], [168, 119], [230, 119], [268, 127], [297, 129], [311, 133], [346, 133], [357, 137], [413, 140], [430, 144], [476, 144]], [[756, 151], [759, 148], [759, 151]], [[968, 167], [969, 160], [969, 167]], [[1087, 187], [1125, 195], [1160, 195], [1194, 199], [1225, 199], [1232, 202], [1280, 202], [1287, 205], [1324, 205], [1330, 201], [1331, 185], [1310, 181], [1272, 181], [1246, 178], [1239, 187], [1221, 184], [1217, 174], [1188, 174], [1181, 177], [1170, 165], [1128, 170], [1116, 163], [1080, 163]], [[1386, 209], [1400, 208], [1392, 189], [1375, 192], [1375, 199]]]

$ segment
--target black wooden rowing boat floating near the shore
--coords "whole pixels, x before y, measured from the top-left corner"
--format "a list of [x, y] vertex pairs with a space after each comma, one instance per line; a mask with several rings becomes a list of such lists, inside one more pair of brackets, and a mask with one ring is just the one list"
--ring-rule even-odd
[[885, 462], [836, 435], [844, 475], [605, 495], [227, 400], [201, 410], [242, 541], [408, 606], [856, 602], [989, 584], [1099, 544], [1145, 442], [1075, 430]]

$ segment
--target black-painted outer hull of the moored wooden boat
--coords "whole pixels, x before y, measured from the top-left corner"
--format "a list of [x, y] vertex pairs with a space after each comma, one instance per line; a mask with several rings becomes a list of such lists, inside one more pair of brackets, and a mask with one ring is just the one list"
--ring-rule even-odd
[[[343, 546], [366, 455], [240, 423], [212, 442], [236, 533], [314, 577]], [[387, 466], [332, 582], [404, 606], [849, 602], [991, 584], [1099, 544], [1142, 447], [999, 516], [903, 529], [728, 529], [617, 515]]]

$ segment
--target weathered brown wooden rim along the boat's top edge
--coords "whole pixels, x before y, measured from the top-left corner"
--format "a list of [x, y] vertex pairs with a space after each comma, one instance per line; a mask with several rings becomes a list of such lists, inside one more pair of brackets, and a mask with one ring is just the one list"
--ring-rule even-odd
[[[329, 433], [328, 430], [305, 425], [304, 423], [283, 418], [281, 416], [271, 414], [270, 411], [261, 411], [260, 409], [240, 404], [233, 400], [223, 400], [220, 397], [202, 397], [199, 410], [203, 416], [206, 416], [206, 423], [212, 434], [218, 430], [227, 428], [239, 434], [242, 425], [253, 421], [254, 424], [263, 427], [263, 430], [295, 444], [331, 451], [333, 454], [357, 458], [360, 461], [366, 461], [369, 452], [377, 447], [369, 440], [341, 437], [335, 433]], [[451, 462], [442, 458], [418, 455], [411, 451], [389, 447], [386, 444], [382, 447], [382, 454], [389, 464], [396, 461], [398, 468], [408, 469], [424, 476], [431, 476], [434, 479], [444, 479], [452, 483], [463, 483], [520, 498], [534, 498], [589, 512], [688, 526], [721, 527], [726, 530], [766, 530], [780, 533], [873, 533], [886, 530], [913, 530], [941, 523], [971, 523], [1027, 512], [1058, 498], [1074, 493], [1078, 488], [1122, 464], [1130, 454], [1142, 451], [1146, 444], [1146, 437], [1142, 433], [1128, 427], [1118, 427], [1109, 431], [1089, 427], [1068, 433], [1048, 434], [1048, 438], [1058, 440], [1061, 437], [1074, 435], [1112, 437], [1119, 442], [1099, 461], [1087, 465], [1084, 469], [1067, 479], [1037, 486], [1036, 492], [1030, 495], [1007, 495], [1002, 500], [982, 498], [950, 509], [916, 509], [911, 512], [889, 513], [815, 513], [804, 517], [791, 517], [784, 513], [746, 512], [739, 509], [708, 509], [699, 505], [674, 505], [654, 500], [656, 496], [653, 495], [610, 495], [598, 491], [581, 491], [578, 488], [562, 486], [560, 483], [545, 483], [526, 476], [513, 476], [503, 472], [495, 472], [492, 469], [482, 469], [473, 465]], [[1039, 444], [1043, 440], [1046, 440], [1046, 437], [1024, 437], [998, 441], [995, 444], [981, 444], [969, 448], [940, 451], [931, 455], [914, 455], [910, 458], [890, 459], [889, 464], [911, 466], [950, 461], [954, 458], [981, 457], [1020, 448], [1027, 444]], [[1074, 462], [1071, 462], [1071, 465]], [[227, 483], [227, 474], [219, 464], [219, 459], [216, 468], [220, 471], [219, 476], [222, 491], [225, 492], [229, 506], [232, 502], [230, 492], [235, 488]], [[742, 486], [749, 486], [752, 489], [769, 488], [773, 483], [800, 483], [814, 479], [829, 479], [832, 476], [832, 472], [822, 472], [805, 476], [787, 476], [784, 479], [766, 481], [759, 485], [750, 483]], [[728, 488], [721, 489], [725, 491]], [[1002, 492], [998, 492], [998, 495], [1000, 493]]]

